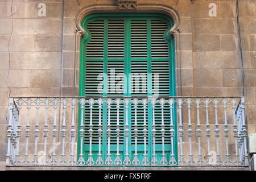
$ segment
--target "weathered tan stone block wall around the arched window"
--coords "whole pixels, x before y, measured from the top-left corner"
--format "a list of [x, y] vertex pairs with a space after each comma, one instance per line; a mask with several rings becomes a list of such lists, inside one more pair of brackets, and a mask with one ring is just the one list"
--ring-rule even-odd
[[[10, 96], [73, 96], [75, 19], [85, 6], [115, 0], [0, 0], [0, 169], [5, 169], [6, 112]], [[209, 3], [217, 16], [209, 17]], [[139, 0], [173, 7], [180, 16], [183, 96], [242, 96], [236, 1]], [[249, 133], [256, 130], [256, 1], [240, 1]], [[79, 65], [79, 64], [77, 64]], [[79, 70], [77, 70], [79, 72]], [[11, 92], [10, 92], [11, 90]]]

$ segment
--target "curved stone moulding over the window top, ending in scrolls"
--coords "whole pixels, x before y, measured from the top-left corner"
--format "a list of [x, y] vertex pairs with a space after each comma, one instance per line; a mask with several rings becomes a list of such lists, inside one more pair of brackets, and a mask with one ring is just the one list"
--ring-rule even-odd
[[166, 5], [158, 4], [138, 4], [137, 9], [118, 9], [116, 5], [92, 5], [86, 6], [76, 15], [76, 30], [81, 35], [85, 34], [81, 26], [82, 19], [93, 13], [162, 13], [168, 15], [174, 21], [174, 26], [170, 29], [170, 34], [176, 34], [180, 26], [180, 17], [175, 9]]

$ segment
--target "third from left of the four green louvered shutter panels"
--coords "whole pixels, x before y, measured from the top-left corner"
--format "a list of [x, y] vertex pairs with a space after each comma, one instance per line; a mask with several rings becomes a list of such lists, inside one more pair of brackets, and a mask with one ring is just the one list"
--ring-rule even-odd
[[[131, 96], [147, 96], [147, 60], [136, 58], [147, 58], [147, 20], [131, 20]], [[143, 81], [142, 81], [143, 80]], [[134, 106], [134, 105], [133, 105]], [[139, 103], [137, 108], [138, 138], [137, 143], [143, 144], [143, 104]], [[146, 111], [147, 112], [147, 111]], [[147, 113], [146, 113], [147, 115]], [[135, 110], [131, 108], [131, 133], [134, 134]], [[131, 144], [135, 144], [134, 135]]]

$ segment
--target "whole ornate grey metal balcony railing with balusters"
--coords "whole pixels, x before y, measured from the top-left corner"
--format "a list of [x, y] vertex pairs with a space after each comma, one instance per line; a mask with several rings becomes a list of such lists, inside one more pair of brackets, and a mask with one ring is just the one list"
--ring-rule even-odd
[[243, 97], [10, 98], [7, 166], [247, 166]]

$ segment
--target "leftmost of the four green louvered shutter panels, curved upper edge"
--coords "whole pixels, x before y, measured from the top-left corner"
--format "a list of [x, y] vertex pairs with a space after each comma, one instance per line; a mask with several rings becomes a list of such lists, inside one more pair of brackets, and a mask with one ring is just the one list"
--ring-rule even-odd
[[[85, 63], [85, 96], [97, 97], [102, 96], [103, 93], [103, 75], [104, 61], [100, 58], [104, 56], [104, 21], [95, 20], [88, 23], [87, 26], [91, 38], [86, 45], [86, 60]], [[89, 58], [98, 58], [98, 60], [91, 60]], [[84, 143], [89, 144], [89, 123], [90, 123], [90, 109], [89, 104], [85, 104], [84, 111]], [[98, 130], [98, 104], [93, 105], [93, 138], [92, 144], [98, 144], [97, 130]], [[101, 114], [102, 119], [102, 114]], [[101, 120], [102, 121], [102, 120]], [[102, 143], [102, 141], [101, 141]]]

